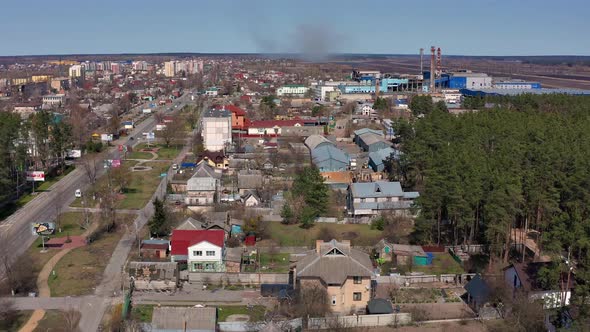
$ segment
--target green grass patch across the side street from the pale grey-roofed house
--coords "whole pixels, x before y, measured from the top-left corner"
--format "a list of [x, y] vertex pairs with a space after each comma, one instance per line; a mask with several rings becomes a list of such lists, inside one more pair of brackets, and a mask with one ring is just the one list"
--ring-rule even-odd
[[146, 162], [152, 167], [149, 171], [132, 172], [131, 182], [125, 191], [125, 198], [118, 202], [119, 209], [141, 209], [151, 199], [158, 184], [162, 180], [161, 173], [168, 171], [167, 162]]

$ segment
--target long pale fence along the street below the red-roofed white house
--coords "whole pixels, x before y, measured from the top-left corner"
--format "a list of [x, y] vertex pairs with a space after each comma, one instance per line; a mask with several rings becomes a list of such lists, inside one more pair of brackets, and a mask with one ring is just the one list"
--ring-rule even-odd
[[260, 284], [288, 284], [288, 273], [220, 273], [220, 272], [189, 272], [189, 283], [193, 282], [210, 282], [230, 283], [241, 285], [260, 285]]

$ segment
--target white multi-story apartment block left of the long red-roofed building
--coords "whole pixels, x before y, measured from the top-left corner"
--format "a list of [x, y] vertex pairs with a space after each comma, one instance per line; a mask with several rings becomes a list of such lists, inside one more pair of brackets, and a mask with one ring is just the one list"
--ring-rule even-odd
[[203, 114], [202, 132], [205, 150], [221, 151], [232, 142], [232, 113], [211, 109]]

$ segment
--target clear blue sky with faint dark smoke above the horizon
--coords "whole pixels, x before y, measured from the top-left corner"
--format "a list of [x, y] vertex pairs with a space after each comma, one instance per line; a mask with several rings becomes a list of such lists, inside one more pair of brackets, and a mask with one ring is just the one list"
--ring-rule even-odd
[[2, 0], [0, 55], [590, 55], [588, 0]]

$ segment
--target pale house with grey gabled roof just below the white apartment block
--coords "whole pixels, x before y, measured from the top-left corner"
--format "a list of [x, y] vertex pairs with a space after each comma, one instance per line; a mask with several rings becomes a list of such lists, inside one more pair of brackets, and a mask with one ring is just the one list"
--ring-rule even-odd
[[188, 206], [211, 205], [217, 202], [221, 186], [221, 172], [205, 162], [195, 168], [195, 173], [186, 183], [185, 203]]

